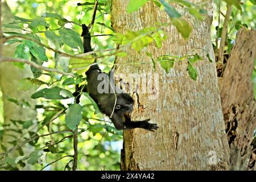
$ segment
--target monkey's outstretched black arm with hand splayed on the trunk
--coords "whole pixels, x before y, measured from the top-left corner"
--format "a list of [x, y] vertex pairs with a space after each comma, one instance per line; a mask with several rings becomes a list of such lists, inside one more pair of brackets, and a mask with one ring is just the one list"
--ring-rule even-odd
[[150, 119], [146, 119], [143, 121], [131, 121], [130, 117], [126, 115], [120, 116], [115, 113], [113, 114], [113, 117], [111, 119], [117, 130], [141, 128], [150, 131], [155, 131], [158, 129], [158, 126], [156, 124], [148, 122], [150, 121]]

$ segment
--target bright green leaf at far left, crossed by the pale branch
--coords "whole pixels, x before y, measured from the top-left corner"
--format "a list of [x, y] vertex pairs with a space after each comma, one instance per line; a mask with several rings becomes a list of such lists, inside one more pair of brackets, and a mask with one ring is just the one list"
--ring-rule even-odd
[[[16, 47], [14, 57], [28, 59], [30, 56], [30, 49], [26, 46], [26, 44], [21, 43]], [[19, 68], [24, 68], [24, 63], [14, 63], [15, 66]]]

